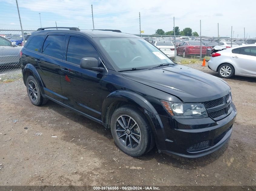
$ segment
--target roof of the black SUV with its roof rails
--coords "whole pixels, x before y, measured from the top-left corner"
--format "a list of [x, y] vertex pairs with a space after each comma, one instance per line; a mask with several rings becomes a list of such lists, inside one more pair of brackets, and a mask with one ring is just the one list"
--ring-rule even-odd
[[101, 37], [128, 37], [128, 38], [141, 38], [136, 35], [128, 34], [128, 33], [120, 33], [120, 32], [113, 32], [108, 30], [39, 30], [33, 32], [33, 34], [47, 34], [47, 33], [68, 33], [68, 34], [78, 34], [85, 36], [89, 36], [91, 38], [101, 38]]

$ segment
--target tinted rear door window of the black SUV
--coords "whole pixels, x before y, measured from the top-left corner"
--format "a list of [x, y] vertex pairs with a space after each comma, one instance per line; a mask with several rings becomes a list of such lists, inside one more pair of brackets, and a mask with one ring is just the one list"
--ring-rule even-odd
[[58, 59], [63, 59], [64, 45], [64, 35], [48, 35], [42, 53]]

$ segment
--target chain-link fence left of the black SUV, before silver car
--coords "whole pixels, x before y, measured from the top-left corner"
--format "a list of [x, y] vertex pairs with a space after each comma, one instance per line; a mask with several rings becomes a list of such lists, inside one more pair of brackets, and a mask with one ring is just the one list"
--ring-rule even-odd
[[[35, 30], [24, 30], [25, 42]], [[24, 46], [21, 30], [0, 29], [0, 75], [21, 68], [20, 51]]]

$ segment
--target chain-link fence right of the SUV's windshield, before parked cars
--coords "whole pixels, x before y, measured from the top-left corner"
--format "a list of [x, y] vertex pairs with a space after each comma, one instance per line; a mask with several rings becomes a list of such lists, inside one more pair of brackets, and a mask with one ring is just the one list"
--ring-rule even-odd
[[221, 37], [182, 37], [165, 35], [142, 35], [142, 37], [157, 46], [175, 62], [181, 64], [199, 63], [204, 58], [208, 61], [214, 46], [231, 48], [256, 43], [256, 39], [231, 39]]

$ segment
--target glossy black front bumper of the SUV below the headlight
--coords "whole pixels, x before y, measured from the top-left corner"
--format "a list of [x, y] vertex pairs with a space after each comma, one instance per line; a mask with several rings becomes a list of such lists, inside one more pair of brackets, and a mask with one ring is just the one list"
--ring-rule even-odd
[[181, 157], [198, 158], [221, 148], [230, 138], [236, 117], [236, 108], [219, 121], [210, 117], [201, 119], [174, 119], [148, 113], [155, 127], [159, 152]]

